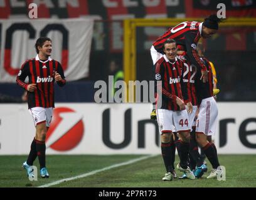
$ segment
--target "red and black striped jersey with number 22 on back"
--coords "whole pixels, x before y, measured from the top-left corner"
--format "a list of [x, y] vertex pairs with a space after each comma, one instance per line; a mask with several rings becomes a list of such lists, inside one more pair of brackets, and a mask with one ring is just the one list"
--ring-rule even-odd
[[[178, 55], [177, 57], [183, 61], [183, 87], [186, 87], [186, 91], [188, 94], [188, 99], [184, 99], [184, 103], [188, 103], [189, 101], [193, 106], [198, 106], [197, 98], [196, 98], [196, 86], [195, 86], [195, 78], [196, 78], [196, 66], [189, 63], [186, 59], [186, 52]], [[184, 89], [182, 89], [184, 91]]]

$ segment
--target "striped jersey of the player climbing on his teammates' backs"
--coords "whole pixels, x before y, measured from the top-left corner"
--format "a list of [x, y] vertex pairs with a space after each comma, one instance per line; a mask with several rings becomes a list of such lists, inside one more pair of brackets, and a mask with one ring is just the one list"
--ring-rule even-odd
[[201, 37], [203, 22], [185, 21], [175, 27], [170, 27], [163, 36], [153, 42], [159, 53], [163, 53], [163, 44], [167, 39], [174, 39], [179, 50], [186, 51], [188, 60], [199, 69], [206, 71], [206, 66], [196, 52], [196, 44]]

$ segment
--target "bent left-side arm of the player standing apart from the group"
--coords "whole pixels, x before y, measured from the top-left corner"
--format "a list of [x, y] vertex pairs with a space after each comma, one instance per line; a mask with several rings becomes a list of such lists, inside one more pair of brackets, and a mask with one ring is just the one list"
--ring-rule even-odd
[[19, 74], [16, 77], [16, 83], [21, 86], [21, 88], [26, 89], [26, 91], [33, 92], [36, 89], [36, 83], [28, 84], [25, 83], [26, 77], [29, 76], [29, 63], [26, 61], [19, 70]]

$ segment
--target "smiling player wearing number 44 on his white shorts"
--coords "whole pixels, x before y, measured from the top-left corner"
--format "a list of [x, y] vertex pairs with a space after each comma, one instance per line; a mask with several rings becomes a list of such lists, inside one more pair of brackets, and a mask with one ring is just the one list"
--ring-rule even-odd
[[[173, 160], [173, 129], [179, 133], [181, 138], [179, 151], [179, 169], [186, 173], [189, 179], [195, 179], [195, 175], [188, 167], [188, 151], [190, 129], [188, 124], [188, 113], [183, 101], [181, 91], [182, 76], [181, 69], [183, 61], [176, 58], [177, 46], [173, 39], [167, 39], [164, 42], [163, 58], [159, 59], [155, 64], [155, 81], [161, 81], [161, 85], [157, 85], [158, 91], [161, 91], [162, 102], [156, 103], [156, 116], [161, 134], [161, 151], [166, 167], [163, 181], [171, 181], [173, 179], [172, 171]], [[156, 92], [157, 93], [157, 92]], [[186, 95], [186, 92], [184, 93]], [[186, 98], [185, 98], [186, 99]]]

